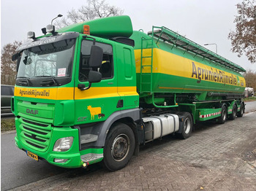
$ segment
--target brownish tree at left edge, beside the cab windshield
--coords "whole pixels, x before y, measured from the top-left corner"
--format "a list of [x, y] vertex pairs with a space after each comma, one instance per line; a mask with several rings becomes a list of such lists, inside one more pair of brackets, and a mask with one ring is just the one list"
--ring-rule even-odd
[[1, 84], [15, 85], [16, 62], [12, 61], [12, 55], [20, 44], [17, 41], [8, 43], [1, 50]]

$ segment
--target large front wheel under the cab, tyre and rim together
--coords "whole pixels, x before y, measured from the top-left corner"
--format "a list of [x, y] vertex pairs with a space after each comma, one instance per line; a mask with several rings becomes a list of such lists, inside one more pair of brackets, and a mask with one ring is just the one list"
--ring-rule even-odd
[[116, 123], [108, 133], [103, 163], [109, 171], [117, 171], [127, 165], [135, 150], [135, 136], [131, 128]]

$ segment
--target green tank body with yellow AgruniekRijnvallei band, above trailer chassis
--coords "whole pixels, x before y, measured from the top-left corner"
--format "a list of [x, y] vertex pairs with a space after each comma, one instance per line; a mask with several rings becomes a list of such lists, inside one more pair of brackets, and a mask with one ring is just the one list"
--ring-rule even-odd
[[241, 66], [168, 28], [153, 26], [148, 34], [134, 31], [130, 38], [135, 40], [137, 87], [147, 104], [152, 96], [163, 103], [168, 95], [205, 101], [244, 93]]

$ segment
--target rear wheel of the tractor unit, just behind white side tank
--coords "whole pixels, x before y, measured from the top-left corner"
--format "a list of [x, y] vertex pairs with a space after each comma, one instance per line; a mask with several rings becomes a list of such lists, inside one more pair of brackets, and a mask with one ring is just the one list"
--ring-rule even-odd
[[193, 128], [193, 121], [192, 121], [192, 116], [189, 113], [186, 113], [184, 116], [183, 122], [181, 122], [182, 128], [181, 133], [178, 134], [178, 136], [181, 139], [187, 139], [189, 136], [191, 136], [192, 133], [192, 128]]

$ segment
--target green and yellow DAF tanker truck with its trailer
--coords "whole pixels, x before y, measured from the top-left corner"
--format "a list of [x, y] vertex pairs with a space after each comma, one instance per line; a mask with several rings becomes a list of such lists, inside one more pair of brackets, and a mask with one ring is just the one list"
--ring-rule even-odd
[[64, 168], [124, 168], [140, 145], [244, 114], [245, 70], [165, 27], [129, 16], [28, 33], [18, 47], [15, 144]]

